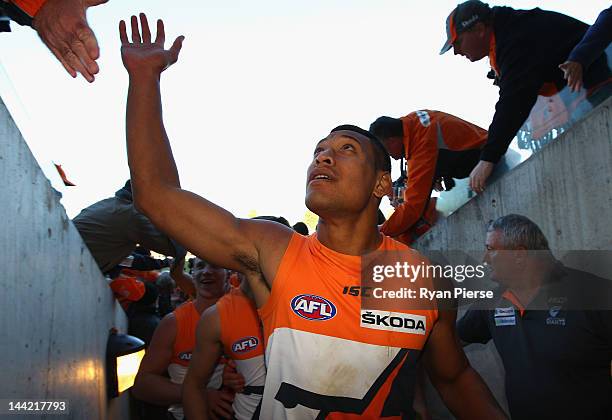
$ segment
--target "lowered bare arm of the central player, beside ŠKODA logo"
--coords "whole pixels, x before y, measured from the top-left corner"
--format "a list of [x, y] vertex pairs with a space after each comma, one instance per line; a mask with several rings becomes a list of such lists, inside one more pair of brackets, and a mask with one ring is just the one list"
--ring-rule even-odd
[[440, 311], [425, 348], [432, 384], [458, 419], [505, 419], [480, 375], [470, 366], [455, 333], [456, 311]]

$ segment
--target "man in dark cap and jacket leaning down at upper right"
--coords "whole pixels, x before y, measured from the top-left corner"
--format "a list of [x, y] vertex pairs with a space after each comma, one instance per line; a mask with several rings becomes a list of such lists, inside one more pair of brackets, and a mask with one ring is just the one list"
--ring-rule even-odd
[[[488, 56], [499, 85], [489, 137], [480, 162], [470, 174], [474, 191], [484, 190], [493, 167], [527, 119], [538, 95], [551, 96], [566, 85], [558, 66], [587, 28], [585, 23], [560, 13], [539, 8], [491, 8], [478, 0], [461, 3], [448, 16], [448, 39], [440, 54], [453, 48], [455, 54], [470, 61]], [[600, 55], [586, 72], [584, 85], [590, 94], [609, 77], [610, 69]]]

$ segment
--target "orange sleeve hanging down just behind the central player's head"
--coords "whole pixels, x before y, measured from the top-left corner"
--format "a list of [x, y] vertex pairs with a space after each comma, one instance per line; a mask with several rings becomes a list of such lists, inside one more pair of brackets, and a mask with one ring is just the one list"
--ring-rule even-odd
[[428, 129], [415, 133], [413, 137], [409, 142], [404, 142], [408, 164], [404, 202], [395, 208], [381, 228], [387, 236], [398, 236], [415, 224], [423, 214], [431, 194], [438, 159], [436, 125], [431, 124]]

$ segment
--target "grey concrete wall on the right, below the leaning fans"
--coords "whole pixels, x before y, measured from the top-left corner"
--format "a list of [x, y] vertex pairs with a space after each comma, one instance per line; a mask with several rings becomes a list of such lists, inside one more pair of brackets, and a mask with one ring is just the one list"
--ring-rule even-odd
[[[487, 223], [518, 213], [540, 226], [558, 258], [569, 250], [612, 250], [611, 126], [609, 98], [540, 153], [441, 220], [416, 247], [483, 250]], [[468, 346], [466, 353], [506, 407], [503, 367], [492, 343]], [[431, 386], [427, 397], [434, 419], [452, 418]]]

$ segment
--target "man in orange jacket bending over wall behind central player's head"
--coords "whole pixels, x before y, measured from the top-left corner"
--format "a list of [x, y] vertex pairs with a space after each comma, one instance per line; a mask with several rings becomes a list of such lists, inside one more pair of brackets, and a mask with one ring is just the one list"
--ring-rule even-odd
[[370, 131], [383, 141], [393, 159], [406, 158], [403, 203], [396, 206], [381, 231], [410, 244], [436, 221], [431, 191], [442, 190], [443, 180], [470, 175], [487, 141], [487, 131], [454, 115], [430, 110], [402, 118], [380, 117]]

